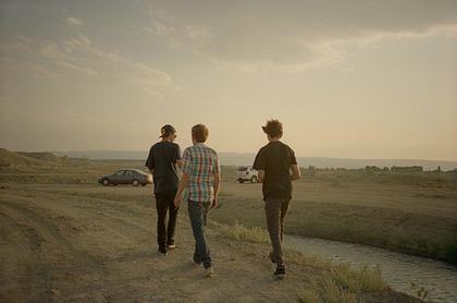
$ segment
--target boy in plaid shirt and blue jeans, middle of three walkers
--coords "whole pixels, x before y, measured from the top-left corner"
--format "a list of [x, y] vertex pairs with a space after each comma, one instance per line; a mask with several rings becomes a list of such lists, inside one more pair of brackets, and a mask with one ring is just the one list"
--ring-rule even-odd
[[221, 178], [218, 154], [205, 144], [207, 138], [207, 126], [197, 124], [192, 128], [192, 141], [194, 145], [184, 150], [183, 177], [174, 203], [178, 207], [182, 194], [186, 191], [185, 197], [187, 199], [190, 226], [195, 238], [193, 260], [197, 265], [203, 265], [206, 277], [212, 277], [214, 269], [205, 237], [205, 226], [209, 209], [215, 207], [218, 204]]

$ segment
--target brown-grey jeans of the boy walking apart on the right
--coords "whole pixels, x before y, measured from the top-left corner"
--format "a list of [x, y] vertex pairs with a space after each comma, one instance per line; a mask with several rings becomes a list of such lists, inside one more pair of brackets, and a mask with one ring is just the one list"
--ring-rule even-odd
[[265, 201], [267, 229], [273, 246], [273, 259], [277, 268], [284, 268], [284, 254], [281, 243], [284, 234], [284, 218], [287, 214], [289, 199], [268, 197]]

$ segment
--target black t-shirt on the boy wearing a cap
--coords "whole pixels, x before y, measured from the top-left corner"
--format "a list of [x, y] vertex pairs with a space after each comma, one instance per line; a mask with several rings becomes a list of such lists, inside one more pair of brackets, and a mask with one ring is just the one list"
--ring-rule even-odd
[[149, 149], [145, 166], [152, 170], [153, 192], [166, 193], [177, 191], [180, 178], [176, 172], [176, 160], [181, 159], [180, 145], [162, 141]]

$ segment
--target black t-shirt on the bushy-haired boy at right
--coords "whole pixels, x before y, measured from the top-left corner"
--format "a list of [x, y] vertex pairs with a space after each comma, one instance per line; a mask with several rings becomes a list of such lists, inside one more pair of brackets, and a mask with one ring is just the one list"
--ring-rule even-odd
[[263, 199], [292, 198], [291, 166], [296, 165], [295, 153], [286, 144], [270, 142], [257, 153], [252, 168], [264, 170]]

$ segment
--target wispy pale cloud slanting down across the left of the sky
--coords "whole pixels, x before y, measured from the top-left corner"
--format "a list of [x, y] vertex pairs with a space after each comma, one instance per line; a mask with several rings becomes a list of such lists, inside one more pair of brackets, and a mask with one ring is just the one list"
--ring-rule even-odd
[[0, 45], [0, 51], [1, 65], [10, 70], [28, 70], [54, 80], [78, 76], [120, 81], [153, 96], [162, 96], [161, 88], [175, 86], [166, 72], [125, 54], [104, 50], [81, 33], [53, 43], [16, 36], [14, 41]]

